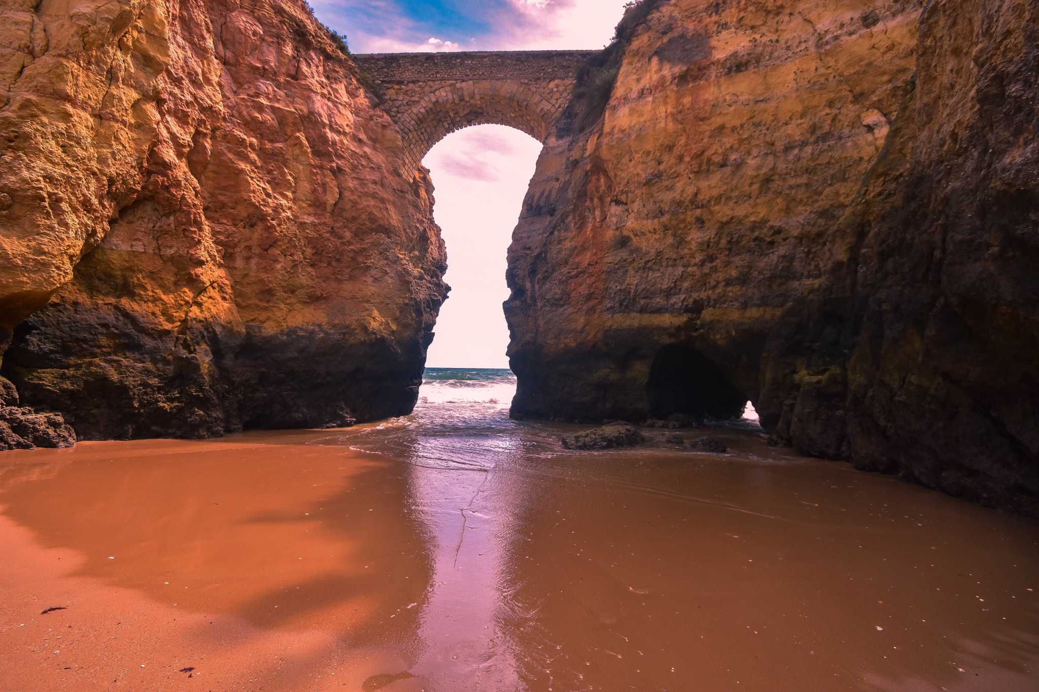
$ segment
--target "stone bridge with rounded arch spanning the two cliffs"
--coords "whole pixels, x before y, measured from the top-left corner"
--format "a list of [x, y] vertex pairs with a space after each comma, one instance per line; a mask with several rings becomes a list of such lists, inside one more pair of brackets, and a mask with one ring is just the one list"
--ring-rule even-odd
[[507, 124], [544, 141], [578, 70], [597, 51], [369, 53], [353, 55], [382, 96], [420, 165], [445, 135], [471, 124]]

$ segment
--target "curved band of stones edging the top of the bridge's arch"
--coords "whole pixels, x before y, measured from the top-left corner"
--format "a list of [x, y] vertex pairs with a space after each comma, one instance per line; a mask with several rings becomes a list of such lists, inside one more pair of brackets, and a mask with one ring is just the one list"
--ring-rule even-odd
[[402, 133], [404, 148], [418, 166], [436, 142], [456, 130], [475, 124], [505, 124], [543, 142], [555, 119], [555, 109], [538, 101], [532, 103], [505, 94], [481, 94], [473, 101], [425, 104], [409, 114], [415, 127]]

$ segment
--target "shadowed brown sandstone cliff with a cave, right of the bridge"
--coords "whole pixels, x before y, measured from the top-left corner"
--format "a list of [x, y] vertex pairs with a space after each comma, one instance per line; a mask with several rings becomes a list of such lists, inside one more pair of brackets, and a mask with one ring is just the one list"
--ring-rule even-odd
[[548, 140], [515, 417], [725, 417], [1039, 516], [1039, 4], [666, 0]]

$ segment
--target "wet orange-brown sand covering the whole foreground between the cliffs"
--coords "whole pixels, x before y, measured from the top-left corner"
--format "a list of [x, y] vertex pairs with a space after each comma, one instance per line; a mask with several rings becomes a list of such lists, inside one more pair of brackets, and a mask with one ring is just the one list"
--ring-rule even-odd
[[1039, 688], [1039, 523], [494, 420], [6, 452], [0, 690]]

